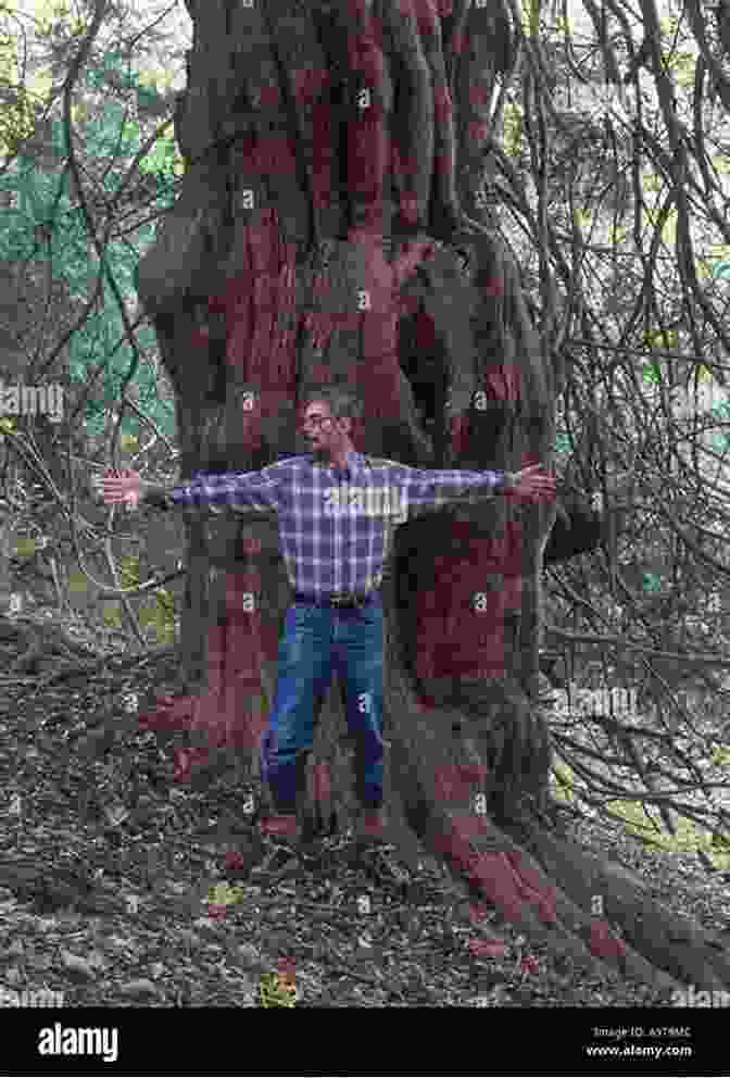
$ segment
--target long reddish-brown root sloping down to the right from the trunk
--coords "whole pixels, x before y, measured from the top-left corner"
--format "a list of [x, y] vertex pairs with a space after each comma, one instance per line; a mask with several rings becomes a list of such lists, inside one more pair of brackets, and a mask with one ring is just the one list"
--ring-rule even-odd
[[[393, 642], [389, 654], [397, 653]], [[730, 987], [730, 955], [721, 941], [652, 900], [638, 878], [529, 819], [515, 825], [518, 844], [477, 814], [469, 789], [475, 767], [458, 761], [446, 711], [420, 707], [401, 663], [388, 664], [387, 679], [389, 811], [445, 862], [473, 901], [489, 902], [533, 943], [568, 955], [589, 976], [626, 977], [667, 992], [684, 985]], [[444, 766], [454, 776], [445, 795], [438, 780]], [[592, 912], [596, 895], [600, 915]]]

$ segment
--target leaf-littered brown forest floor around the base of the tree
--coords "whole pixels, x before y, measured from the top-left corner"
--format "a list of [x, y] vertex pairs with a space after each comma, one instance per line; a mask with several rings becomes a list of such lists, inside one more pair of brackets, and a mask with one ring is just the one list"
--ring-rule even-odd
[[[261, 1006], [281, 958], [305, 1007], [666, 1005], [643, 986], [581, 979], [493, 910], [475, 915], [429, 858], [374, 876], [349, 836], [304, 861], [263, 847], [246, 785], [231, 772], [175, 782], [169, 748], [124, 710], [125, 694], [151, 701], [177, 674], [171, 652], [45, 687], [0, 681], [0, 1005], [54, 992], [63, 1006]], [[571, 830], [730, 945], [727, 873], [619, 829]]]

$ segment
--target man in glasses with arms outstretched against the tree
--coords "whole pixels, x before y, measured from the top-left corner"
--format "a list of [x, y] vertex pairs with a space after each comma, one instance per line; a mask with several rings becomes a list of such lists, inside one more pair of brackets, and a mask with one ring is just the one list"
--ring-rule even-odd
[[105, 476], [109, 504], [142, 496], [169, 506], [229, 505], [278, 513], [294, 602], [279, 643], [277, 694], [262, 742], [262, 773], [277, 815], [268, 833], [297, 836], [297, 764], [314, 739], [315, 702], [337, 669], [350, 731], [360, 749], [363, 836], [382, 830], [383, 625], [378, 592], [392, 531], [412, 510], [468, 496], [553, 498], [541, 465], [503, 472], [421, 471], [357, 453], [350, 440], [357, 400], [327, 387], [306, 399], [302, 431], [312, 452], [260, 472], [197, 474], [165, 494], [139, 475]]

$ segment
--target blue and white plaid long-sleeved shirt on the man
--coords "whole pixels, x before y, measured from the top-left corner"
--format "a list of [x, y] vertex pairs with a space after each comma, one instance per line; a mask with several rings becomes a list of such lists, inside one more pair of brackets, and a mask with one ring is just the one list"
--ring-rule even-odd
[[291, 586], [323, 598], [379, 588], [399, 524], [449, 502], [492, 497], [503, 480], [504, 472], [421, 471], [355, 452], [342, 471], [309, 453], [260, 472], [196, 472], [171, 499], [213, 513], [278, 513]]

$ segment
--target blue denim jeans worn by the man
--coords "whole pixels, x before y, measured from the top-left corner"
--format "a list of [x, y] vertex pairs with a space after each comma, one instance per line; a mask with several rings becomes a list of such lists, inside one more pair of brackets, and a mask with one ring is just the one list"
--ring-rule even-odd
[[276, 701], [262, 739], [262, 778], [277, 812], [295, 812], [298, 757], [312, 749], [315, 703], [335, 673], [344, 687], [350, 732], [355, 739], [361, 802], [382, 801], [382, 601], [361, 607], [289, 607], [279, 641]]

